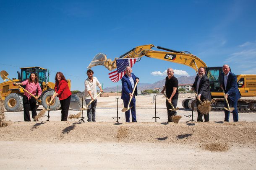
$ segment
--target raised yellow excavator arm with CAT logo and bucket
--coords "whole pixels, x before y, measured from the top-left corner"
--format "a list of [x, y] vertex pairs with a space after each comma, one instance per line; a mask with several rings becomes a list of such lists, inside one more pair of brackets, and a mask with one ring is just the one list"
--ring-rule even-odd
[[[156, 46], [156, 48], [165, 51], [155, 51], [152, 50], [153, 47], [155, 47], [153, 44], [136, 46], [135, 48], [121, 55], [119, 59], [136, 57], [140, 58], [146, 56], [155, 59], [162, 59], [168, 62], [187, 65], [193, 68], [196, 72], [199, 67], [207, 67], [207, 65], [201, 59], [199, 59], [199, 57], [196, 57], [189, 52], [178, 52], [160, 46]], [[114, 61], [112, 61], [111, 59], [107, 59], [105, 54], [98, 53], [89, 64], [88, 69], [97, 65], [104, 65], [108, 70], [114, 70], [116, 68], [116, 59], [118, 58], [115, 58]]]

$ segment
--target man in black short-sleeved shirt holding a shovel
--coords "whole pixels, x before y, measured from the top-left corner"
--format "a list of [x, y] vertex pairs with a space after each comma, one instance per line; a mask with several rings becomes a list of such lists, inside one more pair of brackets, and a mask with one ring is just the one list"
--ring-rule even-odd
[[[169, 101], [172, 103], [173, 107], [177, 107], [178, 103], [178, 97], [179, 97], [179, 90], [178, 90], [178, 84], [179, 81], [176, 77], [174, 77], [174, 72], [172, 68], [167, 69], [167, 77], [165, 78], [165, 87], [162, 90], [161, 93], [164, 93], [166, 90], [166, 96], [169, 98]], [[170, 111], [169, 109], [172, 108], [170, 103], [166, 100], [166, 107], [167, 107], [167, 115], [168, 115], [168, 121], [172, 122], [172, 116], [175, 116], [177, 114], [176, 111]]]

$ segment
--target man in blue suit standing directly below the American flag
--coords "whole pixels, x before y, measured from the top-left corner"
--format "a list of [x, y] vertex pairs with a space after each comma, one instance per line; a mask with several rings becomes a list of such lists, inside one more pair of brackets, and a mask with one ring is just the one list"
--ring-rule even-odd
[[[137, 122], [136, 120], [136, 99], [135, 99], [135, 95], [137, 95], [137, 87], [134, 91], [134, 95], [132, 95], [133, 93], [133, 88], [136, 84], [136, 82], [139, 82], [139, 78], [136, 77], [133, 73], [132, 73], [132, 69], [131, 66], [127, 66], [125, 68], [125, 75], [122, 78], [122, 95], [121, 95], [121, 99], [123, 99], [123, 106], [125, 108], [129, 108], [128, 107], [128, 103], [130, 98], [132, 97], [131, 100], [131, 104], [130, 107], [132, 107], [131, 110], [131, 116], [132, 116], [132, 121], [133, 122]], [[130, 110], [125, 112], [125, 121], [126, 122], [130, 122]]]

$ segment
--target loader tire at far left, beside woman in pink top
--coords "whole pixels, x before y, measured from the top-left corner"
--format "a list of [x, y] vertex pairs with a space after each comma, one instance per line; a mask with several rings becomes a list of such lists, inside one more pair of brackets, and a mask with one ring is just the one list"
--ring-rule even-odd
[[5, 109], [7, 111], [21, 111], [23, 109], [23, 97], [17, 93], [10, 93], [5, 98]]

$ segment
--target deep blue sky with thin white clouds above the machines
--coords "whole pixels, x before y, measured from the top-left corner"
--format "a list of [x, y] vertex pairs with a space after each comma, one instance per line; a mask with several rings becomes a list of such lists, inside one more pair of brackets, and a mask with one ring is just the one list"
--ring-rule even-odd
[[[135, 46], [188, 51], [209, 67], [229, 64], [256, 74], [255, 0], [0, 0], [0, 70], [40, 66], [84, 90], [87, 66], [101, 52], [112, 60]], [[190, 67], [142, 57], [133, 73], [142, 83], [196, 75]], [[103, 66], [92, 67], [103, 88], [121, 85]], [[3, 82], [3, 80], [0, 80]]]

